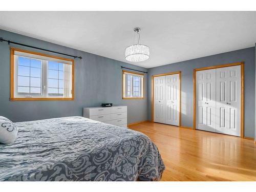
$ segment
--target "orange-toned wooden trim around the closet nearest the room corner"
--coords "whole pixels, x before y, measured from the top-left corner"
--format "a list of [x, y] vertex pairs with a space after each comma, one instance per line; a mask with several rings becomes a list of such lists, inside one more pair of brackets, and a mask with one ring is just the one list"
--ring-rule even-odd
[[156, 74], [151, 76], [151, 121], [154, 122], [154, 77], [166, 76], [166, 75], [174, 75], [179, 74], [179, 81], [180, 81], [180, 90], [179, 90], [179, 125], [181, 126], [181, 71], [169, 72], [169, 73], [162, 73]]

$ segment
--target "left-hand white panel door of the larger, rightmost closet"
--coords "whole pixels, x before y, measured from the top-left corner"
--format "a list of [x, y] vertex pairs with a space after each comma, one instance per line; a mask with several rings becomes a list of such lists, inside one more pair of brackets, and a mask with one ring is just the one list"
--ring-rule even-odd
[[196, 72], [196, 129], [216, 131], [216, 69]]

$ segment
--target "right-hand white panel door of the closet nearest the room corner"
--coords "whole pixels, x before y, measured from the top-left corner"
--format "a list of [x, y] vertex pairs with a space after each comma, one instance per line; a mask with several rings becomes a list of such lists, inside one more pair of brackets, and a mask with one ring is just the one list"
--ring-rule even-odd
[[166, 84], [166, 124], [179, 125], [180, 82], [179, 74], [165, 76]]

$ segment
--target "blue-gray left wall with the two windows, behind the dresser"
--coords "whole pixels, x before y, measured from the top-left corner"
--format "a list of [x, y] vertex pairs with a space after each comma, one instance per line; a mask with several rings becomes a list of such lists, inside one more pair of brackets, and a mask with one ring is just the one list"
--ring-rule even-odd
[[[145, 86], [144, 90], [144, 99], [123, 100], [121, 94], [122, 70], [120, 66], [142, 71], [147, 71], [146, 69], [3, 30], [0, 30], [0, 37], [31, 46], [83, 57], [81, 60], [75, 59], [74, 101], [10, 101], [10, 49], [6, 42], [1, 42], [0, 116], [5, 116], [14, 122], [76, 115], [81, 116], [84, 106], [98, 106], [102, 102], [112, 102], [114, 104], [127, 105], [128, 123], [147, 119], [147, 86]], [[11, 46], [19, 47], [15, 45]], [[33, 50], [26, 47], [20, 48]], [[147, 76], [145, 82], [147, 82]]]

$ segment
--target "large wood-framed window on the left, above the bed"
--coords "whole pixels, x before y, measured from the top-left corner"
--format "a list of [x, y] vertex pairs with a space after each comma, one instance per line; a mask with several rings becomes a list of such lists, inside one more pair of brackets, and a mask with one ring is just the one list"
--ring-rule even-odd
[[11, 48], [11, 100], [73, 100], [73, 62]]

